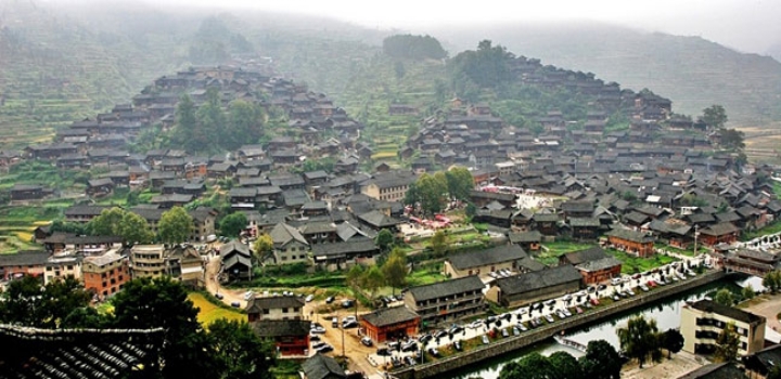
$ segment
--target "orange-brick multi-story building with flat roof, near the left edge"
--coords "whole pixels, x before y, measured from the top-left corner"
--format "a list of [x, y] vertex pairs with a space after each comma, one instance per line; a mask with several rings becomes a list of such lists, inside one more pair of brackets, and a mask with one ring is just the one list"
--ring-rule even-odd
[[102, 297], [112, 296], [130, 280], [128, 258], [116, 251], [87, 257], [81, 264], [81, 277], [87, 290]]

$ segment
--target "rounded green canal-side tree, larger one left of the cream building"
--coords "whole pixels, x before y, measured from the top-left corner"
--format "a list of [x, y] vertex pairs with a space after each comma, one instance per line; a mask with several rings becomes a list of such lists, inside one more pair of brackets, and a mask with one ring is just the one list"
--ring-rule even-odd
[[629, 318], [627, 326], [618, 328], [616, 334], [624, 355], [638, 360], [640, 368], [649, 358], [657, 362], [662, 357], [655, 319]]

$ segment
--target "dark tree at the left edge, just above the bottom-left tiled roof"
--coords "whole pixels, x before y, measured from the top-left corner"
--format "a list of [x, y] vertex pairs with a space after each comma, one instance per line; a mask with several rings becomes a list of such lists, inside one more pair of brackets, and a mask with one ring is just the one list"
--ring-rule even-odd
[[0, 322], [36, 328], [59, 328], [74, 312], [89, 308], [90, 295], [77, 279], [67, 276], [46, 286], [31, 275], [11, 280], [0, 295]]

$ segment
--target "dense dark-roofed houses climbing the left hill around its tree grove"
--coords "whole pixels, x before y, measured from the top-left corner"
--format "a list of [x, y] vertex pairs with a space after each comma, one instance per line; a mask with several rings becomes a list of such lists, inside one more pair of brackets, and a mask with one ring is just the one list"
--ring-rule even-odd
[[[167, 130], [175, 125], [175, 112], [182, 94], [195, 105], [205, 101], [206, 90], [219, 89], [223, 105], [234, 100], [260, 104], [286, 115], [290, 134], [271, 139], [267, 144], [247, 144], [236, 152], [197, 156], [181, 149], [154, 149], [130, 153], [129, 144], [140, 133], [158, 126]], [[371, 148], [357, 143], [362, 125], [347, 116], [343, 108], [322, 93], [306, 86], [274, 78], [261, 71], [236, 67], [201, 67], [164, 76], [133, 97], [131, 104], [119, 104], [94, 119], [73, 122], [59, 130], [51, 143], [30, 145], [21, 152], [0, 153], [0, 167], [27, 159], [50, 161], [62, 169], [103, 168], [105, 173], [89, 180], [86, 194], [105, 196], [115, 187], [151, 187], [162, 192], [154, 199], [161, 207], [181, 205], [196, 198], [207, 179], [253, 181], [271, 171], [286, 171], [306, 159], [334, 158], [335, 173], [355, 173], [358, 162], [369, 158]], [[317, 179], [315, 179], [317, 180]], [[192, 182], [192, 183], [191, 183]], [[281, 193], [261, 192], [274, 197]], [[17, 184], [10, 199], [38, 200], [56, 195], [55, 188], [36, 184]]]

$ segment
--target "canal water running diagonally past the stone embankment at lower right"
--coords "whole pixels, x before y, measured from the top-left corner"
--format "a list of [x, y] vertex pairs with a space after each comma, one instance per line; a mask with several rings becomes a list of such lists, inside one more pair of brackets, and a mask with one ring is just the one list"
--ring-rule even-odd
[[[587, 325], [576, 330], [572, 330], [565, 334], [565, 337], [588, 344], [589, 341], [603, 339], [610, 342], [613, 347], [618, 350], [618, 336], [616, 336], [615, 329], [624, 326], [627, 319], [633, 315], [643, 314], [649, 318], [656, 321], [656, 325], [661, 331], [680, 327], [680, 311], [681, 305], [686, 301], [695, 301], [703, 299], [704, 297], [712, 295], [712, 292], [729, 287], [730, 289], [739, 288], [738, 280], [734, 277], [727, 277], [718, 282], [714, 282], [683, 293], [679, 293], [674, 297], [660, 300], [657, 302], [646, 304], [641, 308], [633, 309], [628, 312], [616, 314], [606, 319], [602, 319], [592, 325]], [[466, 378], [484, 378], [484, 379], [496, 379], [499, 377], [501, 368], [509, 362], [524, 357], [533, 352], [538, 352], [542, 355], [550, 355], [556, 351], [566, 351], [573, 356], [578, 357], [582, 355], [579, 351], [561, 345], [552, 339], [543, 342], [530, 345], [526, 349], [521, 349], [509, 354], [494, 357], [485, 361], [484, 363], [470, 366], [466, 369], [453, 371], [453, 378], [466, 379]]]

